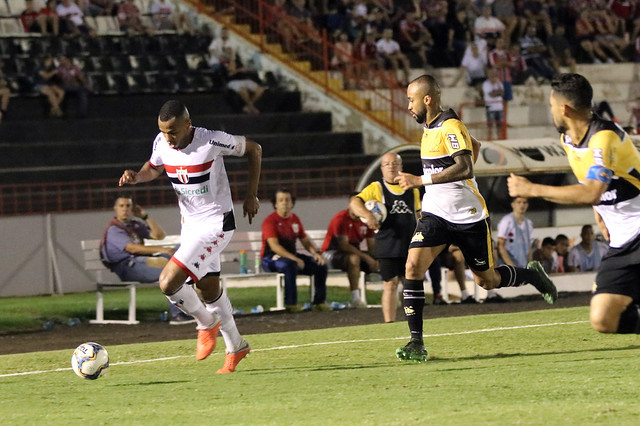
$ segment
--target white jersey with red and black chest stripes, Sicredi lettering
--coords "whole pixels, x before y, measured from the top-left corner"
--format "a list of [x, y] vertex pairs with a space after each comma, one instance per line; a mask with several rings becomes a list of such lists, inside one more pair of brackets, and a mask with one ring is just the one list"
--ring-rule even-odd
[[149, 163], [163, 166], [167, 172], [178, 195], [183, 222], [201, 221], [233, 209], [222, 157], [241, 157], [245, 149], [244, 136], [195, 127], [193, 139], [184, 149], [171, 148], [159, 133]]

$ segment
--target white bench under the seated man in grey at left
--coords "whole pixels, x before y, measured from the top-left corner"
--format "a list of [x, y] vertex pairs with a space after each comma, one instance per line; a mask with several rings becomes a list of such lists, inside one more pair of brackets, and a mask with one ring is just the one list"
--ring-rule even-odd
[[[107, 280], [105, 274], [109, 271], [100, 260], [100, 240], [83, 240], [80, 242], [84, 257], [84, 269], [95, 274], [96, 277], [96, 319], [91, 324], [138, 324], [136, 320], [136, 288], [138, 286], [153, 286], [157, 283], [141, 283], [138, 281]], [[129, 315], [126, 320], [104, 319], [104, 291], [126, 288], [129, 290]]]

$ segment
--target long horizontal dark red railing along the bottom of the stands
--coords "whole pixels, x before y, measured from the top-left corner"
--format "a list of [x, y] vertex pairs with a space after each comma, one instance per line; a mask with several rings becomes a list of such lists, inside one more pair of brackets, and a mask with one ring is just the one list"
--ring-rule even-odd
[[[263, 170], [259, 196], [271, 197], [287, 187], [297, 198], [347, 196], [354, 191], [366, 166], [318, 167]], [[241, 201], [247, 182], [246, 171], [228, 173], [234, 201]], [[144, 206], [175, 205], [176, 195], [166, 176], [146, 184], [118, 187], [114, 179], [82, 182], [53, 182], [0, 185], [0, 216], [58, 213], [111, 208], [119, 192], [130, 191]]]

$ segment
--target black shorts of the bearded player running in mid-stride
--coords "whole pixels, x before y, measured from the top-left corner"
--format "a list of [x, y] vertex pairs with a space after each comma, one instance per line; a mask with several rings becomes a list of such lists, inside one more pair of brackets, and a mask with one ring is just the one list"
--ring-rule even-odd
[[460, 247], [472, 270], [482, 272], [494, 267], [489, 218], [460, 224], [423, 212], [409, 249], [450, 244]]

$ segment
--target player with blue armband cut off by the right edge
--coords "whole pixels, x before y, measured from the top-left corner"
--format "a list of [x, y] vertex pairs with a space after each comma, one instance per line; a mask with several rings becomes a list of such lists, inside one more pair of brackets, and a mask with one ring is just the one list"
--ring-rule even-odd
[[596, 275], [591, 326], [640, 334], [640, 153], [617, 124], [592, 113], [592, 97], [580, 74], [561, 74], [551, 83], [551, 115], [579, 183], [538, 185], [511, 175], [509, 193], [593, 205], [610, 249]]

